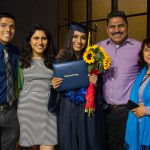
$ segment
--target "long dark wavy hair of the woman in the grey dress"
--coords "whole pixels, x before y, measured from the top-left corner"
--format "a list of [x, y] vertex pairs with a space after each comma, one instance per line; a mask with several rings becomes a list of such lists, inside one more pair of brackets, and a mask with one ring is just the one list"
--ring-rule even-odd
[[28, 68], [31, 66], [31, 61], [32, 61], [32, 47], [30, 45], [30, 40], [31, 36], [37, 31], [37, 30], [42, 30], [45, 32], [46, 37], [48, 39], [48, 45], [47, 48], [43, 52], [43, 58], [44, 58], [44, 64], [46, 67], [51, 67], [52, 63], [54, 61], [55, 57], [55, 49], [53, 45], [53, 41], [51, 38], [50, 33], [48, 30], [42, 26], [35, 24], [31, 27], [31, 29], [28, 31], [25, 40], [24, 40], [24, 45], [23, 45], [23, 50], [21, 53], [20, 61], [21, 61], [21, 67], [22, 68]]

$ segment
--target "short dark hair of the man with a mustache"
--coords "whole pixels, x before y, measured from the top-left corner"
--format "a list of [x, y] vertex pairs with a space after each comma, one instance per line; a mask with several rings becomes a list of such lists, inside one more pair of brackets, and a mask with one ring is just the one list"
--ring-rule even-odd
[[107, 16], [107, 22], [106, 22], [107, 25], [108, 25], [110, 19], [115, 18], [115, 17], [121, 17], [126, 22], [126, 24], [128, 25], [127, 17], [123, 11], [112, 11], [112, 12], [110, 12]]

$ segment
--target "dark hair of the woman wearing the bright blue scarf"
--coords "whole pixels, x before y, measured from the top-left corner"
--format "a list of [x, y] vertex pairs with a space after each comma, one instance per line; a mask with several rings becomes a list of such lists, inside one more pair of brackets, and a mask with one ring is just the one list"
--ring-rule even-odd
[[147, 63], [144, 61], [144, 56], [143, 56], [143, 50], [145, 45], [147, 45], [147, 47], [150, 47], [150, 37], [147, 37], [142, 42], [141, 51], [139, 52], [139, 60], [138, 60], [139, 69], [142, 69], [145, 65], [147, 66]]

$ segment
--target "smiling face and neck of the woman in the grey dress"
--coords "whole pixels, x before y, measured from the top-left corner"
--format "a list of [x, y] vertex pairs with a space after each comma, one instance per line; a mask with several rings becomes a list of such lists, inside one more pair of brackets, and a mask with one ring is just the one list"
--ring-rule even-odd
[[43, 30], [36, 30], [31, 36], [30, 45], [33, 58], [42, 58], [44, 50], [47, 48], [48, 39]]

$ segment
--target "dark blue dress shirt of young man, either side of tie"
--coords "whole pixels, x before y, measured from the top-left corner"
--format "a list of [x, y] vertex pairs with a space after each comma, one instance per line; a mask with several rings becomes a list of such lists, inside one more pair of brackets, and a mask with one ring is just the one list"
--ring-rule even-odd
[[[0, 43], [0, 104], [5, 103], [7, 100], [7, 75], [3, 49], [4, 45]], [[13, 67], [13, 77], [15, 77], [18, 63], [18, 49], [12, 45], [8, 45], [8, 51]]]

